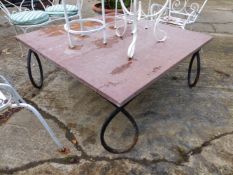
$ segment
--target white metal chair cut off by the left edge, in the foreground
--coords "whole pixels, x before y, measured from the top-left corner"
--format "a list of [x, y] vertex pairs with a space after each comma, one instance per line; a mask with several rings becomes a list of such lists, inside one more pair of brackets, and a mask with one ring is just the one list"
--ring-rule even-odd
[[63, 145], [57, 139], [56, 135], [44, 120], [42, 115], [33, 106], [27, 104], [22, 97], [20, 97], [18, 92], [11, 86], [11, 84], [0, 75], [0, 112], [13, 108], [25, 108], [31, 111], [45, 127], [55, 144], [59, 147], [59, 150], [64, 150]]

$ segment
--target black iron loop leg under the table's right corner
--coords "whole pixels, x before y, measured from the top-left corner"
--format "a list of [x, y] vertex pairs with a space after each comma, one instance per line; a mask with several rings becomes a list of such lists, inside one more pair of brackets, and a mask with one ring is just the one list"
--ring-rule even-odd
[[[196, 72], [196, 77], [194, 79], [194, 81], [192, 82], [191, 81], [191, 72], [192, 72], [192, 66], [193, 66], [193, 61], [194, 59], [197, 59], [197, 72]], [[196, 86], [198, 80], [199, 80], [199, 77], [200, 77], [200, 72], [201, 72], [201, 60], [200, 60], [200, 53], [199, 51], [197, 51], [196, 53], [193, 54], [191, 60], [190, 60], [190, 63], [189, 63], [189, 69], [188, 69], [188, 86], [190, 88]]]

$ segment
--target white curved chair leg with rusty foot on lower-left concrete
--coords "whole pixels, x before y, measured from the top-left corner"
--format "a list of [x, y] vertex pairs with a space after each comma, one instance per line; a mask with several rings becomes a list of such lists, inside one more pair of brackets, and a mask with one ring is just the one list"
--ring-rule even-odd
[[42, 115], [31, 105], [26, 103], [20, 103], [18, 107], [26, 108], [27, 110], [31, 111], [35, 116], [38, 118], [38, 120], [41, 122], [41, 124], [44, 126], [44, 128], [49, 133], [50, 137], [53, 139], [55, 144], [59, 147], [59, 149], [64, 149], [64, 146], [61, 144], [61, 142], [56, 137], [55, 133], [52, 131], [52, 129], [49, 127], [45, 119], [42, 117]]

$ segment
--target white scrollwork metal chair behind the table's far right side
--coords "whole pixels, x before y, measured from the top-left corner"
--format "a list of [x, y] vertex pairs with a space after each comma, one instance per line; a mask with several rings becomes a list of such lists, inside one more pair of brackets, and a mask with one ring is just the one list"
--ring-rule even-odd
[[[187, 24], [193, 24], [208, 0], [169, 0], [167, 9], [161, 18], [162, 22], [177, 25], [185, 29]], [[151, 0], [149, 0], [151, 3]], [[157, 9], [162, 8], [160, 4]]]

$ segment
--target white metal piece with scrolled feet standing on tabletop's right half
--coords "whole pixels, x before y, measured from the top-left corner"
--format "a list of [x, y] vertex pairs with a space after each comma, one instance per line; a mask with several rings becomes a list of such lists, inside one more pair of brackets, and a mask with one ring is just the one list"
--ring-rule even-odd
[[[153, 35], [155, 37], [156, 42], [164, 42], [167, 39], [167, 33], [161, 29], [159, 29], [158, 25], [161, 20], [162, 15], [167, 9], [167, 6], [169, 4], [169, 0], [166, 0], [164, 5], [158, 10], [155, 10], [155, 7], [157, 7], [157, 4], [152, 4], [149, 2], [148, 5], [148, 12], [144, 12], [142, 9], [142, 4], [141, 1], [138, 2], [138, 0], [132, 0], [131, 1], [131, 8], [128, 10], [125, 7], [124, 1], [123, 0], [116, 0], [116, 4], [120, 1], [120, 4], [123, 9], [123, 15], [118, 14], [117, 8], [115, 9], [115, 28], [116, 28], [116, 35], [119, 37], [123, 37], [127, 27], [128, 23], [133, 23], [132, 24], [132, 34], [133, 34], [133, 40], [131, 44], [129, 45], [128, 48], [128, 57], [132, 58], [135, 52], [135, 47], [136, 47], [136, 41], [137, 41], [137, 26], [138, 22], [141, 20], [153, 20], [154, 21], [154, 26], [153, 26]], [[118, 26], [118, 19], [123, 19], [123, 26], [120, 25]], [[123, 30], [120, 32], [120, 29]], [[148, 26], [145, 26], [145, 29], [148, 28]], [[145, 31], [146, 32], [146, 31]]]

